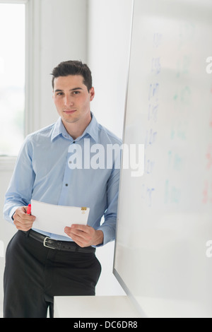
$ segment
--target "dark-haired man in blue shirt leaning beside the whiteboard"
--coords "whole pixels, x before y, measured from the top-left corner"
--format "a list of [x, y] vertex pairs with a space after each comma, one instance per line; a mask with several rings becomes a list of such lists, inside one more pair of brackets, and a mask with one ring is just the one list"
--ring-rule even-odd
[[[25, 139], [6, 192], [4, 217], [18, 232], [6, 250], [4, 317], [46, 317], [48, 307], [52, 317], [54, 296], [95, 295], [101, 271], [95, 247], [115, 237], [119, 168], [114, 157], [112, 167], [91, 167], [88, 155], [121, 141], [90, 112], [95, 90], [86, 64], [59, 64], [52, 87], [59, 119]], [[83, 167], [74, 167], [71, 157], [82, 155]], [[34, 229], [36, 215], [26, 213], [31, 199], [89, 207], [88, 225], [67, 225], [64, 237]]]

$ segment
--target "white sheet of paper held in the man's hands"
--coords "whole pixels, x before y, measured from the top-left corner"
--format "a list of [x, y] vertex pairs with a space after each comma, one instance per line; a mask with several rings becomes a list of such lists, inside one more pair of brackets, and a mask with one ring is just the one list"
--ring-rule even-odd
[[31, 201], [31, 215], [36, 219], [33, 228], [45, 232], [66, 236], [64, 228], [72, 224], [87, 225], [90, 208], [58, 206], [40, 201]]

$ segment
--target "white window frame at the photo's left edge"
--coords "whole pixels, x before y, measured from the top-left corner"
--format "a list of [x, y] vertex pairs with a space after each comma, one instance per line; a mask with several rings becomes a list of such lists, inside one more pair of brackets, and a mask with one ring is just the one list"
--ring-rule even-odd
[[[24, 136], [40, 127], [40, 8], [41, 0], [0, 0], [25, 4], [25, 116]], [[36, 112], [35, 112], [36, 111]], [[0, 171], [13, 170], [17, 156], [0, 156]]]

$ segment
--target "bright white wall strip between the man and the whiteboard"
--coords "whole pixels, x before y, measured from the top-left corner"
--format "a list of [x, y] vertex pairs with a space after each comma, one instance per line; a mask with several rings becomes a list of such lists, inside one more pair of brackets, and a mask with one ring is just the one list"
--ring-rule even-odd
[[[122, 138], [128, 76], [132, 0], [88, 1], [88, 65], [93, 74], [92, 110], [100, 124]], [[98, 249], [102, 275], [97, 295], [124, 295], [112, 273], [114, 242]]]

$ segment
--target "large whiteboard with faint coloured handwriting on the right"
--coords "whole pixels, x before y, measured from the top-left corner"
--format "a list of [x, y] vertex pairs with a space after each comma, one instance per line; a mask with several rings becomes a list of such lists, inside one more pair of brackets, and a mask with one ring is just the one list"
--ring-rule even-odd
[[124, 143], [144, 174], [122, 167], [114, 275], [143, 317], [212, 317], [211, 31], [211, 0], [134, 1]]

